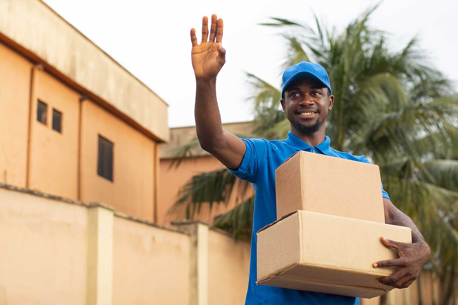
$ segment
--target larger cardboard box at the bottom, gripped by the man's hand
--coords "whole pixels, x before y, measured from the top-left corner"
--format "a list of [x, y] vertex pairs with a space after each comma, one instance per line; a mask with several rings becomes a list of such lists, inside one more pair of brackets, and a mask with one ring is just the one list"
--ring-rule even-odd
[[378, 222], [296, 211], [257, 233], [257, 284], [373, 298], [393, 289], [376, 279], [398, 258], [381, 237], [412, 242], [411, 229]]

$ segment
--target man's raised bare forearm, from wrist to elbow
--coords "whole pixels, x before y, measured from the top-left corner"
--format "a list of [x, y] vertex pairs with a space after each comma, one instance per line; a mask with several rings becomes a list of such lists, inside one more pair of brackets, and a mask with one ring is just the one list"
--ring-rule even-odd
[[211, 150], [223, 140], [223, 128], [216, 100], [216, 78], [196, 78], [196, 118], [197, 138], [204, 150]]

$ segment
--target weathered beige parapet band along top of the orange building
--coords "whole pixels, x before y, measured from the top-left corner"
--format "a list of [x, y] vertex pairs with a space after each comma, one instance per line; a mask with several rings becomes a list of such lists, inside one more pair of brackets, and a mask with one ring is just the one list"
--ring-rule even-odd
[[0, 38], [118, 111], [160, 141], [167, 141], [168, 105], [81, 32], [40, 0], [0, 1]]

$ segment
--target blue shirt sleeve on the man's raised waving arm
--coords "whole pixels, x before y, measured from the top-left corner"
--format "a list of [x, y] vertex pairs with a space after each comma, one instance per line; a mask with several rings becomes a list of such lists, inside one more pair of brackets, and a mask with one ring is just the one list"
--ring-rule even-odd
[[256, 177], [264, 163], [266, 151], [267, 151], [267, 140], [264, 139], [241, 139], [245, 142], [246, 151], [243, 156], [242, 164], [236, 170], [229, 171], [242, 180], [249, 181], [251, 183], [256, 182]]

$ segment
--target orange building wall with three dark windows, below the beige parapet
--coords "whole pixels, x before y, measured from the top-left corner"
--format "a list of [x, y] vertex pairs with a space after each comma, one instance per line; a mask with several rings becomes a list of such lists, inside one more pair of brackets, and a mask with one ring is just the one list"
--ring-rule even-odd
[[[80, 92], [0, 43], [0, 182], [104, 202], [153, 221], [157, 142], [81, 98]], [[47, 105], [46, 124], [37, 120], [38, 100]], [[52, 128], [53, 109], [62, 113], [61, 133]], [[99, 134], [114, 143], [113, 182], [97, 174]]]

